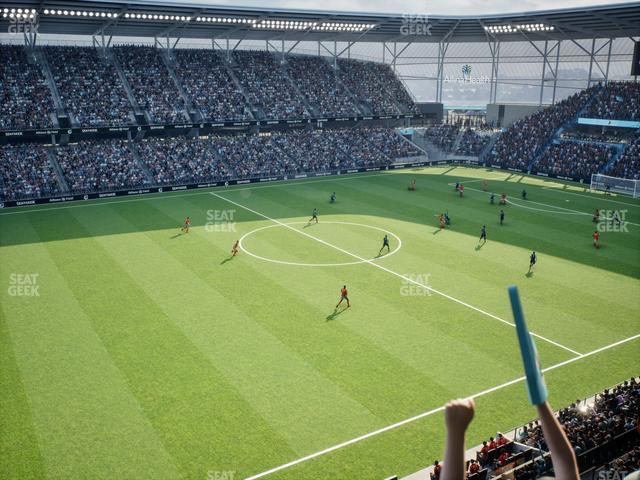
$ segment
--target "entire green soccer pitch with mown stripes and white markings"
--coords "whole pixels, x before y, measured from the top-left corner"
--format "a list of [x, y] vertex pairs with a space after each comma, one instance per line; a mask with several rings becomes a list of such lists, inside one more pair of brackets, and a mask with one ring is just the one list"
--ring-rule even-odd
[[[600, 249], [596, 208], [625, 218]], [[469, 447], [535, 417], [514, 283], [554, 407], [640, 370], [640, 202], [500, 171], [5, 210], [0, 278], [3, 479], [409, 474], [441, 458], [449, 399], [476, 395]]]

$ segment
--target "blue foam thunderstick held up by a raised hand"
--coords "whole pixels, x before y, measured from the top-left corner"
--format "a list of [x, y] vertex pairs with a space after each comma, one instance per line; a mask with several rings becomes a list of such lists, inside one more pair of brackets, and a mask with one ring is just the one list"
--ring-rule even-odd
[[524, 363], [524, 373], [527, 376], [529, 401], [532, 405], [540, 405], [547, 400], [549, 394], [547, 392], [547, 386], [544, 383], [544, 377], [542, 376], [540, 362], [538, 361], [538, 351], [527, 329], [527, 324], [524, 321], [518, 287], [515, 285], [509, 287], [509, 299], [511, 300], [513, 318], [516, 322], [516, 332], [518, 333], [518, 342], [520, 343], [522, 363]]

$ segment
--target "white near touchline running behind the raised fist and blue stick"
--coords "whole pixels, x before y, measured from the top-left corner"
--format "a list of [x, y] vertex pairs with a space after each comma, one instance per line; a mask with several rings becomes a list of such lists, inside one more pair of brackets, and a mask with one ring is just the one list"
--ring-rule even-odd
[[[629, 337], [629, 338], [625, 338], [624, 340], [619, 340], [619, 341], [617, 341], [615, 343], [612, 343], [610, 345], [605, 345], [604, 347], [600, 347], [600, 348], [598, 348], [596, 350], [593, 350], [591, 352], [582, 354], [579, 357], [573, 357], [573, 358], [570, 358], [569, 360], [565, 360], [564, 362], [556, 363], [555, 365], [551, 365], [550, 367], [543, 368], [542, 372], [546, 373], [546, 372], [549, 372], [551, 370], [555, 370], [556, 368], [560, 368], [560, 367], [563, 367], [563, 366], [568, 365], [570, 363], [576, 362], [578, 360], [582, 360], [583, 358], [587, 358], [587, 357], [590, 357], [592, 355], [596, 355], [596, 354], [598, 354], [600, 352], [603, 352], [605, 350], [609, 350], [611, 348], [617, 347], [618, 345], [622, 345], [622, 344], [627, 343], [627, 342], [631, 342], [631, 341], [636, 340], [638, 338], [640, 338], [640, 334], [634, 335], [634, 336]], [[478, 397], [482, 397], [482, 396], [488, 395], [489, 393], [495, 392], [497, 390], [502, 390], [503, 388], [506, 388], [506, 387], [508, 387], [510, 385], [522, 382], [524, 379], [525, 379], [525, 377], [515, 378], [513, 380], [510, 380], [508, 382], [502, 383], [500, 385], [496, 385], [495, 387], [491, 387], [491, 388], [488, 388], [486, 390], [482, 390], [481, 392], [475, 393], [475, 394], [471, 395], [469, 398], [476, 399]], [[284, 470], [284, 469], [289, 468], [289, 467], [293, 467], [294, 465], [298, 465], [300, 463], [306, 462], [306, 461], [311, 460], [313, 458], [317, 458], [317, 457], [320, 457], [322, 455], [326, 455], [327, 453], [331, 453], [331, 452], [334, 452], [336, 450], [339, 450], [341, 448], [348, 447], [349, 445], [353, 445], [354, 443], [358, 443], [358, 442], [361, 442], [362, 440], [366, 440], [367, 438], [371, 438], [371, 437], [374, 437], [376, 435], [380, 435], [382, 433], [388, 432], [389, 430], [393, 430], [393, 429], [396, 429], [398, 427], [402, 427], [403, 425], [415, 422], [416, 420], [420, 420], [422, 418], [429, 417], [429, 416], [431, 416], [431, 415], [433, 415], [435, 413], [441, 412], [443, 410], [444, 410], [444, 406], [441, 406], [441, 407], [438, 407], [438, 408], [434, 408], [432, 410], [420, 413], [420, 414], [415, 415], [413, 417], [401, 420], [401, 421], [399, 421], [397, 423], [394, 423], [394, 424], [391, 424], [391, 425], [387, 425], [386, 427], [380, 428], [378, 430], [374, 430], [373, 432], [369, 432], [369, 433], [366, 433], [364, 435], [360, 435], [359, 437], [352, 438], [351, 440], [347, 440], [346, 442], [339, 443], [339, 444], [334, 445], [332, 447], [325, 448], [324, 450], [320, 450], [320, 451], [312, 453], [310, 455], [306, 455], [304, 457], [298, 458], [297, 460], [293, 460], [291, 462], [284, 463], [282, 465], [279, 465], [277, 467], [271, 468], [271, 469], [266, 470], [264, 472], [252, 475], [250, 477], [247, 477], [245, 480], [257, 480], [258, 478], [266, 477], [267, 475], [271, 475], [272, 473], [279, 472], [281, 470]]]

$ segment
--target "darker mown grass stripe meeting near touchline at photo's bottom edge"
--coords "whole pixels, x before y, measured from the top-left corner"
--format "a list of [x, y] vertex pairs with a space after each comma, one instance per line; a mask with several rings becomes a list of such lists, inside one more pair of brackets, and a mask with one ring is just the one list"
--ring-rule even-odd
[[[281, 449], [292, 453], [210, 358], [112, 258], [113, 252], [102, 247], [114, 237], [92, 237], [92, 229], [99, 234], [101, 229], [122, 223], [119, 216], [105, 211], [96, 222], [85, 212], [74, 211], [66, 221], [68, 228], [85, 229], [85, 238], [74, 244], [74, 253], [85, 262], [59, 262], [58, 268], [127, 379], [141, 411], [179, 462], [180, 474], [206, 477], [209, 470], [233, 470], [243, 462], [266, 463], [278, 458], [274, 452]], [[128, 235], [117, 238], [122, 241], [114, 243], [119, 243], [125, 263], [129, 255], [139, 255], [139, 247]], [[64, 254], [64, 245], [52, 243], [48, 247], [54, 257]], [[152, 274], [155, 271], [154, 265], [146, 268]], [[86, 281], [87, 271], [92, 272], [92, 282]], [[104, 302], [110, 302], [106, 315]], [[183, 309], [180, 299], [176, 304]], [[144, 441], [135, 435], [127, 440], [134, 451]], [[138, 468], [135, 477], [147, 476], [143, 466]]]

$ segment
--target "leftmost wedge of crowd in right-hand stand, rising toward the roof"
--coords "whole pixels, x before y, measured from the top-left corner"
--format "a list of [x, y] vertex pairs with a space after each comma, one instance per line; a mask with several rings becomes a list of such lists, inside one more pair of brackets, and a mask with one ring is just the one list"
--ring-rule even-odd
[[527, 170], [556, 130], [585, 106], [595, 88], [578, 92], [515, 122], [496, 140], [487, 162], [505, 168]]

